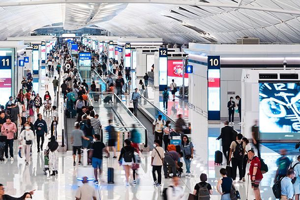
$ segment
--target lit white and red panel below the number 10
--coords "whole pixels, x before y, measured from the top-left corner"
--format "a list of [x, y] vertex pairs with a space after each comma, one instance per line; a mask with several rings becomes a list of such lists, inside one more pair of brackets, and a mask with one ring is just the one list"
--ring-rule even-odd
[[220, 70], [208, 70], [208, 110], [220, 111]]

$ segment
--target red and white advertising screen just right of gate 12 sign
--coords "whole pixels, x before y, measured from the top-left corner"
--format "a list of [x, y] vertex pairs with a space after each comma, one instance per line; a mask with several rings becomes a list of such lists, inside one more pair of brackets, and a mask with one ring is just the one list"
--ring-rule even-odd
[[[172, 83], [172, 79], [177, 86], [182, 86], [182, 59], [168, 60], [168, 86]], [[184, 74], [184, 86], [188, 86], [188, 74]]]

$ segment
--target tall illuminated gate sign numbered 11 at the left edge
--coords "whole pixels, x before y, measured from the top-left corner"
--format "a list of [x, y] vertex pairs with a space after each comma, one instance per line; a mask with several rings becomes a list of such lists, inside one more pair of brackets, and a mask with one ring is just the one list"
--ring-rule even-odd
[[11, 96], [11, 56], [0, 56], [0, 104], [5, 105]]

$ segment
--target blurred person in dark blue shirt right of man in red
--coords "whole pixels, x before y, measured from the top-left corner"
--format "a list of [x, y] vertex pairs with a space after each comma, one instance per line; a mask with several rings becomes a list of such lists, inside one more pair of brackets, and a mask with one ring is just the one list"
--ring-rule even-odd
[[286, 173], [289, 170], [289, 167], [291, 165], [290, 159], [286, 157], [287, 150], [284, 148], [280, 149], [279, 153], [282, 156], [276, 160], [276, 165], [278, 166], [278, 169], [276, 171], [274, 183], [277, 181], [277, 179], [286, 176]]

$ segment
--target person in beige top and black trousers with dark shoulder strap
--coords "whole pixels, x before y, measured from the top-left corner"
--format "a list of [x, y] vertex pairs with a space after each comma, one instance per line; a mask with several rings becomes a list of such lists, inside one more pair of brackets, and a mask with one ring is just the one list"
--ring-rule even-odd
[[[151, 153], [151, 166], [152, 166], [152, 176], [154, 186], [161, 186], [161, 167], [164, 162], [164, 149], [159, 146], [160, 141], [159, 140], [154, 140], [154, 149], [152, 150]], [[156, 174], [155, 171], [157, 171], [158, 179], [156, 179]]]

